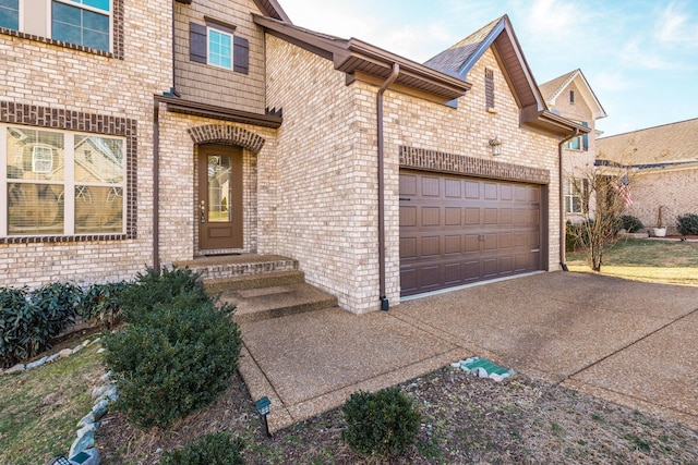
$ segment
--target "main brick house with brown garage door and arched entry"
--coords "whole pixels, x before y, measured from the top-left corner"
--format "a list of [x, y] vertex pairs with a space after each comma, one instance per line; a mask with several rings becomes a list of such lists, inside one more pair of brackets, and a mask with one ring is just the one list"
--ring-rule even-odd
[[365, 313], [558, 269], [558, 144], [589, 129], [507, 16], [420, 64], [275, 0], [26, 3], [0, 5], [1, 285], [278, 254]]

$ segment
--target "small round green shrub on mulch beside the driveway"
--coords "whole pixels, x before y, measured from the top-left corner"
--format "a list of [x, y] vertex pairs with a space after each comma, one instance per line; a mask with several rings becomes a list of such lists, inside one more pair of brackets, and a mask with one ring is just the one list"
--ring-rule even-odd
[[362, 455], [399, 455], [414, 443], [420, 413], [398, 388], [354, 392], [342, 405], [341, 439]]

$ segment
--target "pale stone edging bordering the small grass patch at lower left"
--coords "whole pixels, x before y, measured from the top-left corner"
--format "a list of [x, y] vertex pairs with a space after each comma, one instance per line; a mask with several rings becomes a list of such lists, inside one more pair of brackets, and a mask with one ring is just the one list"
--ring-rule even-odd
[[[19, 375], [21, 372], [39, 368], [46, 364], [50, 364], [60, 358], [65, 358], [74, 355], [85, 347], [97, 344], [101, 341], [101, 338], [95, 340], [85, 340], [82, 344], [73, 348], [63, 348], [53, 355], [47, 355], [38, 360], [28, 364], [17, 364], [7, 370], [0, 370], [0, 376], [4, 375]], [[97, 354], [101, 354], [106, 350], [100, 347], [97, 350]], [[117, 384], [111, 380], [111, 371], [101, 376], [103, 384], [97, 386], [92, 391], [93, 407], [87, 415], [77, 421], [77, 439], [73, 441], [70, 446], [68, 462], [74, 465], [99, 465], [101, 458], [99, 457], [99, 451], [95, 448], [95, 431], [103, 424], [99, 421], [108, 411], [109, 403], [117, 402], [119, 393]], [[65, 456], [61, 455], [49, 461], [49, 464], [63, 463], [59, 462], [59, 458], [65, 460]]]

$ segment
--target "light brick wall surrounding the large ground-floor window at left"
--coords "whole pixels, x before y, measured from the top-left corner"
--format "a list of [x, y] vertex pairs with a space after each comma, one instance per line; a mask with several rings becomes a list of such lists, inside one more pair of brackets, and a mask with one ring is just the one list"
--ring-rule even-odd
[[[123, 37], [118, 38], [123, 41], [122, 57], [0, 33], [0, 100], [130, 120], [137, 132], [131, 188], [137, 195], [134, 234], [117, 240], [0, 244], [0, 285], [120, 280], [152, 262], [153, 95], [170, 87], [170, 5], [164, 0], [123, 2]], [[98, 132], [95, 127], [91, 131]]]

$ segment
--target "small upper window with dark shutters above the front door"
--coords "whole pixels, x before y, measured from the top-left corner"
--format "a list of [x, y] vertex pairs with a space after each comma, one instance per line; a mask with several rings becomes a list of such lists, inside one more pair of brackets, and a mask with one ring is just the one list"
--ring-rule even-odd
[[250, 44], [234, 34], [234, 26], [206, 17], [205, 26], [189, 24], [189, 59], [248, 74]]

